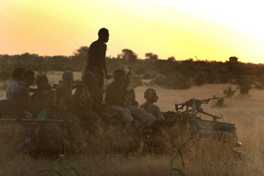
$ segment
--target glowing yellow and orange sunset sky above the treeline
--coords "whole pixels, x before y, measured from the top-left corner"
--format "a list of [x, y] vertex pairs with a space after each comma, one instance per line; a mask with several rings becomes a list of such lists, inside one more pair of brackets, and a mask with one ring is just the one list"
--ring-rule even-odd
[[107, 56], [264, 63], [261, 1], [0, 0], [0, 54], [70, 56], [109, 30]]

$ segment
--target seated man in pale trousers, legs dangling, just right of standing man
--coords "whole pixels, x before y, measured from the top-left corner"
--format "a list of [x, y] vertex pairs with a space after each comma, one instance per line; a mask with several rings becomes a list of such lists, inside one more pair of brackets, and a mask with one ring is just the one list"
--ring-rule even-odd
[[114, 82], [107, 86], [107, 94], [105, 96], [106, 110], [119, 113], [126, 124], [126, 129], [133, 122], [133, 115], [137, 115], [141, 120], [147, 122], [148, 126], [152, 126], [157, 121], [154, 115], [148, 113], [143, 108], [133, 107], [125, 103], [127, 94], [128, 81], [125, 79], [124, 70], [114, 71]]

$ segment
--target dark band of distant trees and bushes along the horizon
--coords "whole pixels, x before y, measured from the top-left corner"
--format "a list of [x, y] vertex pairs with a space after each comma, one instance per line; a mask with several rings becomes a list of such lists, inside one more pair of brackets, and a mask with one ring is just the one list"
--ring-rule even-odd
[[[44, 71], [83, 71], [88, 57], [88, 46], [81, 46], [73, 52], [73, 56], [38, 56], [37, 54], [0, 55], [0, 80], [11, 78], [11, 72], [18, 66]], [[169, 89], [188, 89], [193, 85], [237, 84], [244, 89], [264, 89], [264, 65], [241, 63], [235, 56], [225, 62], [198, 61], [189, 58], [186, 61], [176, 61], [172, 56], [167, 60], [160, 59], [156, 54], [147, 53], [145, 59], [139, 59], [130, 49], [123, 49], [121, 54], [107, 57], [107, 68], [113, 73], [117, 68], [126, 69], [131, 66], [133, 87], [142, 84], [142, 80], [151, 80]]]

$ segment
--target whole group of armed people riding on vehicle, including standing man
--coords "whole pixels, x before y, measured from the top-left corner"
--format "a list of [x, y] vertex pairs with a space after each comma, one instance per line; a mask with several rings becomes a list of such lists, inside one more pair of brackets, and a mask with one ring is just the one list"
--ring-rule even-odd
[[[164, 119], [155, 105], [158, 100], [155, 89], [146, 89], [146, 102], [138, 106], [135, 91], [128, 90], [130, 71], [128, 74], [122, 69], [114, 71], [114, 81], [108, 84], [104, 98], [104, 79], [113, 77], [108, 73], [105, 61], [108, 40], [109, 31], [100, 29], [98, 39], [89, 47], [88, 64], [81, 80], [74, 81], [71, 70], [66, 70], [59, 84], [51, 86], [45, 74], [35, 77], [32, 70], [15, 68], [6, 99], [0, 101], [0, 118], [79, 118], [92, 123], [100, 118], [111, 121], [106, 114], [116, 113], [121, 116], [126, 129], [137, 123], [135, 118], [152, 128], [174, 125], [174, 121]], [[37, 89], [30, 88], [34, 82]]]

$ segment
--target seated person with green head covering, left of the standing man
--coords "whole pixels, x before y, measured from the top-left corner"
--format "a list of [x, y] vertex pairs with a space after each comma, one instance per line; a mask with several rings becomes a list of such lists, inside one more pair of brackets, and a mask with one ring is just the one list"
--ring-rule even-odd
[[[71, 70], [66, 70], [62, 75], [62, 81], [56, 87], [53, 99], [52, 112], [56, 114], [55, 118], [63, 120], [82, 120], [82, 122], [93, 122], [100, 117], [92, 111], [87, 111], [85, 107], [81, 108], [80, 103], [83, 98], [86, 86], [88, 84], [87, 75], [83, 76], [83, 80], [77, 84], [73, 84], [73, 73]], [[76, 92], [72, 94], [72, 90]], [[51, 115], [51, 109], [47, 108], [42, 111], [37, 118], [46, 119], [54, 118]]]

